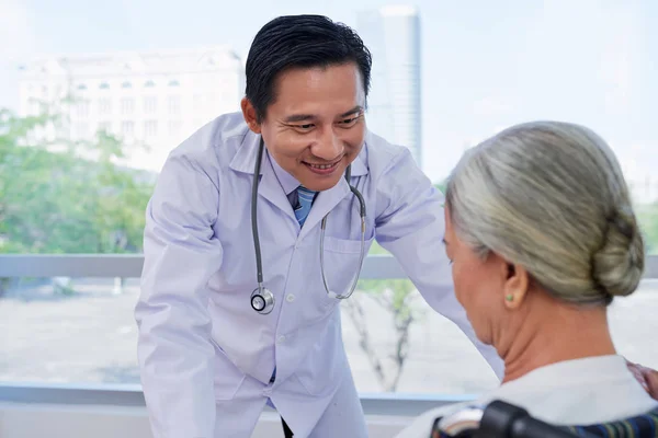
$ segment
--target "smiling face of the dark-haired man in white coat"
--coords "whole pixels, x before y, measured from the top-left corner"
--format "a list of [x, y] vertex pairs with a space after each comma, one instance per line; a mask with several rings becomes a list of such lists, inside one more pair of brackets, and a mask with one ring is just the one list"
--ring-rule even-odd
[[250, 102], [242, 101], [251, 129], [302, 185], [311, 191], [333, 187], [363, 147], [365, 93], [359, 68], [350, 62], [287, 70], [274, 91], [274, 103], [260, 124]]

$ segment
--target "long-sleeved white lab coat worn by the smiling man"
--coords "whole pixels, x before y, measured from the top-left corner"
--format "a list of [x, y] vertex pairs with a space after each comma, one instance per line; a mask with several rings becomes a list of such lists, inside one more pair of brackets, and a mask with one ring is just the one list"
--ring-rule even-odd
[[[331, 211], [325, 267], [330, 287], [347, 290], [360, 254], [359, 203], [341, 178], [318, 194], [299, 229], [263, 155], [258, 223], [264, 284], [276, 306], [266, 315], [254, 312], [250, 208], [259, 139], [239, 113], [211, 122], [172, 151], [148, 204], [135, 316], [158, 438], [247, 437], [268, 397], [295, 437], [322, 436], [320, 425], [326, 436], [364, 430], [339, 301], [327, 296], [319, 266], [320, 221]], [[430, 306], [453, 320], [500, 376], [502, 361], [476, 341], [453, 293], [441, 194], [409, 151], [367, 134], [351, 183], [365, 199], [367, 247], [377, 239], [390, 251]]]

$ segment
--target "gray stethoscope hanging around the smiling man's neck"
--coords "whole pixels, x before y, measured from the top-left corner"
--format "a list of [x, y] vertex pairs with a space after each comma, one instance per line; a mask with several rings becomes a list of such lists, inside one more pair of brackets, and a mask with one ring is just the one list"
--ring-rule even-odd
[[[253, 170], [253, 185], [251, 188], [251, 232], [253, 234], [253, 247], [256, 250], [256, 273], [258, 277], [258, 288], [251, 292], [251, 308], [256, 310], [258, 313], [268, 314], [274, 309], [274, 293], [270, 291], [268, 288], [263, 286], [263, 266], [261, 262], [261, 252], [260, 252], [260, 240], [258, 237], [258, 222], [257, 222], [257, 200], [258, 200], [258, 183], [260, 176], [260, 165], [261, 160], [263, 158], [264, 142], [261, 137], [260, 146], [258, 149], [258, 158], [256, 160], [256, 169]], [[363, 267], [363, 258], [365, 256], [365, 203], [363, 201], [363, 196], [356, 189], [356, 187], [350, 184], [350, 175], [351, 175], [351, 164], [348, 165], [345, 171], [345, 180], [348, 185], [350, 186], [350, 191], [356, 196], [360, 204], [360, 214], [361, 214], [361, 255], [359, 257], [359, 270], [356, 272], [356, 277], [352, 281], [352, 286], [350, 287], [350, 291], [347, 295], [339, 295], [333, 292], [329, 285], [327, 284], [327, 276], [325, 275], [325, 230], [327, 228], [327, 214], [322, 218], [321, 227], [320, 227], [320, 270], [322, 273], [322, 283], [325, 284], [325, 290], [329, 298], [336, 298], [339, 300], [344, 300], [350, 298], [354, 289], [356, 288], [356, 284], [359, 283], [359, 274], [361, 273], [361, 268]]]

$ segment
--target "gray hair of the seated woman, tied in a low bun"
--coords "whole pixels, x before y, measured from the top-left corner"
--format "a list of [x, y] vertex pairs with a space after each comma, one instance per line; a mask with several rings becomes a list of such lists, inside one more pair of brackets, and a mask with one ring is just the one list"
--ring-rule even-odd
[[631, 295], [644, 241], [621, 166], [582, 126], [513, 126], [467, 151], [445, 193], [461, 240], [523, 266], [554, 297], [609, 304]]

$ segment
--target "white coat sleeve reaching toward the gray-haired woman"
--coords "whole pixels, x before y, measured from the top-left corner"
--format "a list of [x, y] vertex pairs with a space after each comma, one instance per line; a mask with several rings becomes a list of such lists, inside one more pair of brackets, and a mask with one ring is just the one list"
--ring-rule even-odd
[[468, 336], [501, 379], [502, 359], [494, 347], [476, 337], [454, 295], [450, 263], [443, 249], [443, 195], [407, 149], [392, 159], [377, 188], [377, 242], [396, 257], [430, 307]]

